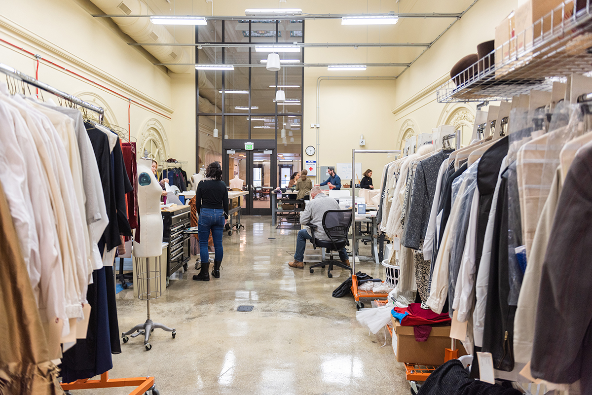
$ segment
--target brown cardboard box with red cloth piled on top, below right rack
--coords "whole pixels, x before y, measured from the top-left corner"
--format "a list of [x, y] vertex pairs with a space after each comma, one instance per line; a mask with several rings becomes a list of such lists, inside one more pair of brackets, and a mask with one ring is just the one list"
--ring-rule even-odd
[[[418, 342], [413, 334], [413, 326], [401, 326], [398, 320], [392, 320], [392, 350], [398, 362], [424, 365], [442, 365], [444, 350], [451, 348], [450, 326], [433, 326], [427, 341]], [[458, 356], [466, 355], [461, 342], [458, 344]]]

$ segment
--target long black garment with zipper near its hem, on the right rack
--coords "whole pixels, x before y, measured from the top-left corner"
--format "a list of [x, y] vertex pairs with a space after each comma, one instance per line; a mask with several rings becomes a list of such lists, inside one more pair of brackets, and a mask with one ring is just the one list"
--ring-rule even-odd
[[494, 367], [504, 371], [514, 368], [512, 339], [516, 312], [515, 306], [508, 305], [508, 177], [507, 170], [501, 174], [497, 197], [482, 344], [482, 351], [491, 352]]

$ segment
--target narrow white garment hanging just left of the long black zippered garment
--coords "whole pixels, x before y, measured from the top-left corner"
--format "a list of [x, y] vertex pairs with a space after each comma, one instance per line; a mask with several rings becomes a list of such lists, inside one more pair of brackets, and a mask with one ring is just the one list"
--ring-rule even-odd
[[[496, 143], [497, 144], [497, 143]], [[481, 157], [482, 159], [482, 157]], [[501, 173], [506, 170], [507, 157], [501, 161], [500, 174], [498, 174], [496, 189], [491, 197], [491, 208], [489, 218], [487, 221], [487, 229], [485, 229], [483, 251], [480, 258], [480, 263], [477, 266], [477, 279], [475, 280], [475, 309], [473, 312], [473, 335], [475, 338], [475, 346], [482, 347], [483, 345], [483, 330], [485, 322], [485, 305], [487, 304], [487, 286], [489, 284], [489, 273], [491, 263], [491, 252], [493, 250], [493, 231], [494, 222], [497, 212], [497, 201], [501, 184]], [[477, 174], [477, 180], [479, 176]], [[481, 190], [480, 190], [481, 193]], [[481, 206], [480, 206], [481, 211]], [[481, 212], [480, 212], [481, 215]], [[479, 218], [481, 220], [481, 218]], [[478, 229], [477, 229], [478, 231]], [[477, 258], [475, 258], [477, 259]]]

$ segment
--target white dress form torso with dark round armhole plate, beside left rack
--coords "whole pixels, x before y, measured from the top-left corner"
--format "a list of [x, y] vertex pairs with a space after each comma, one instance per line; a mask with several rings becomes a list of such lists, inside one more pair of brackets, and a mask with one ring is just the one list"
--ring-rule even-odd
[[162, 187], [152, 173], [152, 160], [138, 160], [138, 214], [140, 216], [140, 242], [134, 240], [134, 257], [160, 257], [162, 255], [162, 215], [160, 195]]

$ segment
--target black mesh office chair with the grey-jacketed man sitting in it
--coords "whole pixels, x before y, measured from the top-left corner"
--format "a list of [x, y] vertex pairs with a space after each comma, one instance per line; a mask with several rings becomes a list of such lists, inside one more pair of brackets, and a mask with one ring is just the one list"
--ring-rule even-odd
[[[349, 245], [348, 239], [348, 232], [349, 227], [352, 225], [352, 211], [351, 210], [329, 210], [323, 215], [323, 229], [330, 240], [320, 240], [314, 237], [314, 231], [316, 230], [317, 226], [313, 224], [308, 224], [310, 226], [311, 235], [313, 239], [311, 242], [313, 243], [313, 247], [316, 249], [317, 247], [326, 248], [327, 252], [329, 251], [339, 251], [346, 245]], [[330, 253], [330, 259], [328, 261], [323, 261], [321, 263], [314, 264], [310, 266], [309, 270], [310, 273], [314, 273], [314, 267], [325, 267], [329, 265], [329, 270], [327, 270], [327, 277], [333, 277], [331, 271], [333, 270], [333, 266], [339, 266], [344, 269], [348, 269], [351, 273], [353, 270], [351, 267], [346, 266], [346, 264], [342, 263], [342, 261], [335, 261], [333, 260], [333, 253]]]

